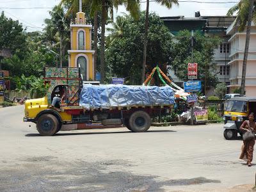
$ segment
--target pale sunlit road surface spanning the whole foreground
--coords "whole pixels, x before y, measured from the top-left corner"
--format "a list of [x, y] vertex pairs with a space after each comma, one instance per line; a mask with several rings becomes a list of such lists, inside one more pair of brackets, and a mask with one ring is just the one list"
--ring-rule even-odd
[[23, 108], [0, 109], [0, 191], [244, 191], [255, 182], [256, 164], [238, 159], [242, 141], [225, 140], [221, 124], [42, 137]]

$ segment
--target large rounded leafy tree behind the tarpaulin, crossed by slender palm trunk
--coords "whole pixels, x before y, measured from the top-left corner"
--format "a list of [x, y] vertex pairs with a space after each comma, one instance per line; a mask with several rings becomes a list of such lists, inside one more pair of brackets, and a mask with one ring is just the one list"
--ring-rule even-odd
[[[116, 36], [106, 50], [108, 76], [125, 77], [129, 84], [141, 84], [145, 12], [141, 12], [139, 18], [135, 20], [130, 15], [120, 19], [125, 20], [122, 35]], [[148, 18], [150, 26], [146, 72], [151, 72], [156, 65], [164, 70], [165, 64], [170, 62], [172, 36], [155, 13], [150, 13]]]

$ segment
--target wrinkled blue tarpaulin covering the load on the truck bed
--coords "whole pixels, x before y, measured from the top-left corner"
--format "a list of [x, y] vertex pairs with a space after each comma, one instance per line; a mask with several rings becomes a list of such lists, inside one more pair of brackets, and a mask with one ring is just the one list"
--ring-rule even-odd
[[86, 109], [109, 109], [132, 106], [168, 106], [174, 104], [170, 86], [127, 86], [123, 84], [84, 84], [80, 106]]

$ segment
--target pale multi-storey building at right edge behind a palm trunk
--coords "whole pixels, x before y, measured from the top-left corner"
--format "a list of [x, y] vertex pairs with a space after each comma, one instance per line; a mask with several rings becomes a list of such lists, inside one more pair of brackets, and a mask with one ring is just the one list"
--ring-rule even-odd
[[[228, 62], [230, 85], [228, 87], [232, 92], [241, 87], [246, 29], [240, 33], [233, 22], [227, 29], [227, 35], [231, 36], [228, 40], [230, 43], [230, 62]], [[256, 96], [256, 26], [253, 23], [246, 65], [245, 90], [246, 96]]]

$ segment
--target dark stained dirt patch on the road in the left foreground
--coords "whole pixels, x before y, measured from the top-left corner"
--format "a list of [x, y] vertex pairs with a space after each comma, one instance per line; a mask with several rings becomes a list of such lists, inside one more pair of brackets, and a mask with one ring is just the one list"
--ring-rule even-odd
[[58, 161], [29, 157], [22, 164], [0, 169], [0, 191], [164, 191], [163, 186], [220, 182], [204, 177], [159, 181], [158, 176], [125, 172], [124, 160]]

